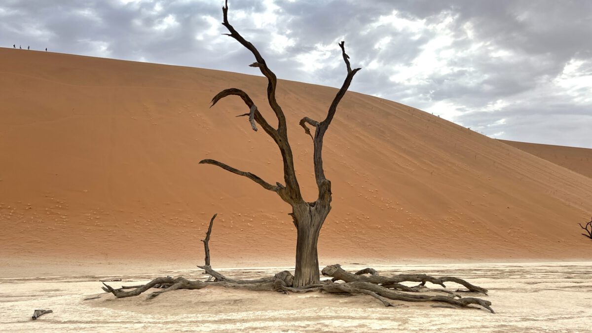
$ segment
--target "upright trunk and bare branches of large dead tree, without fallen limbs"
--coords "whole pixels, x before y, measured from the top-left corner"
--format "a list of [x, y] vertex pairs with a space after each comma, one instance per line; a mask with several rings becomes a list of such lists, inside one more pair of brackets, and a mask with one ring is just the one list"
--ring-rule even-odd
[[[337, 92], [333, 102], [329, 107], [327, 116], [322, 121], [316, 121], [309, 117], [304, 117], [300, 120], [300, 126], [304, 128], [304, 132], [313, 138], [314, 145], [314, 177], [316, 178], [318, 187], [317, 200], [313, 202], [307, 202], [302, 197], [300, 192], [300, 185], [294, 171], [294, 158], [292, 156], [292, 148], [288, 142], [288, 131], [286, 126], [286, 118], [284, 111], [279, 106], [278, 101], [275, 98], [275, 91], [277, 85], [277, 79], [274, 72], [269, 69], [265, 59], [260, 55], [259, 51], [249, 41], [245, 40], [240, 34], [230, 25], [228, 21], [228, 2], [224, 4], [222, 8], [224, 22], [222, 23], [230, 33], [227, 36], [233, 37], [240, 44], [246, 47], [255, 56], [255, 62], [252, 63], [251, 67], [259, 68], [261, 73], [268, 79], [267, 97], [269, 106], [274, 111], [275, 116], [278, 119], [278, 128], [275, 128], [263, 117], [259, 112], [258, 107], [253, 103], [253, 100], [247, 95], [246, 92], [237, 89], [230, 88], [219, 92], [214, 96], [211, 103], [214, 106], [222, 98], [236, 95], [242, 98], [249, 113], [242, 114], [241, 116], [249, 116], [249, 121], [253, 130], [257, 130], [256, 124], [262, 127], [263, 131], [269, 135], [276, 145], [278, 145], [279, 152], [282, 155], [282, 161], [284, 163], [284, 184], [276, 182], [272, 185], [269, 182], [262, 180], [251, 172], [241, 171], [239, 169], [230, 167], [222, 162], [215, 161], [213, 159], [204, 159], [200, 161], [200, 164], [212, 164], [217, 165], [220, 168], [230, 171], [233, 174], [247, 177], [250, 180], [261, 185], [263, 188], [269, 191], [274, 191], [278, 194], [282, 200], [292, 206], [292, 216], [294, 226], [297, 229], [297, 241], [296, 241], [296, 268], [294, 274], [294, 286], [302, 287], [310, 284], [318, 284], [320, 277], [318, 274], [318, 256], [317, 256], [317, 241], [318, 234], [323, 227], [323, 223], [327, 218], [331, 210], [331, 181], [325, 177], [323, 170], [323, 137], [335, 116], [337, 111], [337, 105], [342, 100], [343, 95], [348, 90], [350, 83], [352, 82], [353, 76], [360, 70], [360, 68], [352, 69], [349, 63], [349, 56], [345, 53], [345, 42], [339, 43], [341, 47], [343, 60], [347, 68], [347, 75], [345, 81], [343, 81], [342, 87]], [[314, 136], [311, 135], [308, 125], [316, 128]]]

